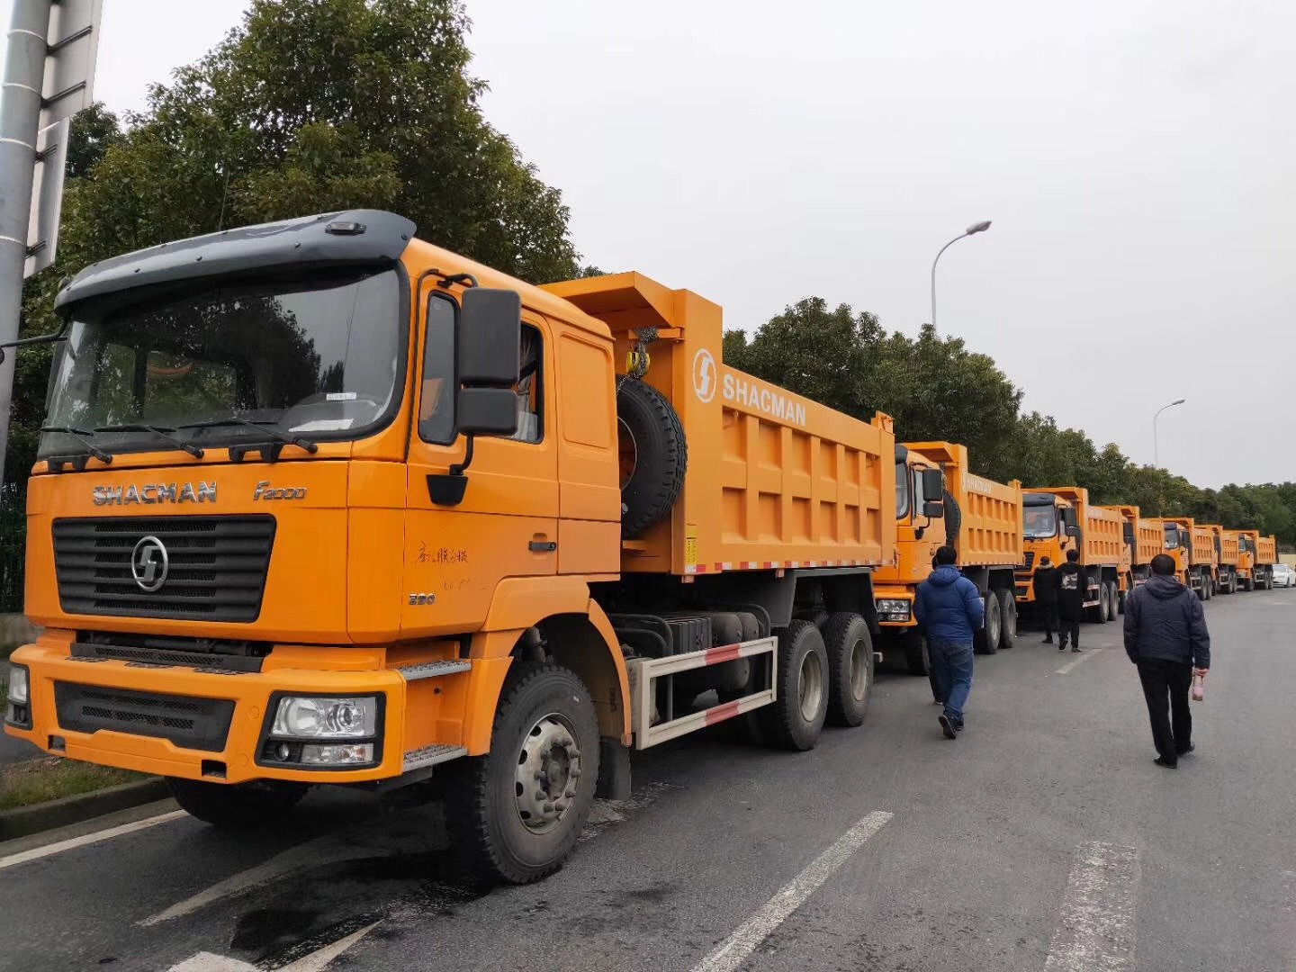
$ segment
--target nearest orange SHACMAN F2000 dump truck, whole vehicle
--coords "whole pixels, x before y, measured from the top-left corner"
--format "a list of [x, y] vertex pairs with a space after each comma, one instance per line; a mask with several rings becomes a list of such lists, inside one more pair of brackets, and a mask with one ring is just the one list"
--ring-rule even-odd
[[890, 421], [724, 367], [701, 297], [530, 286], [363, 210], [118, 257], [56, 306], [10, 735], [220, 824], [435, 771], [454, 844], [520, 883], [631, 746], [863, 718]]

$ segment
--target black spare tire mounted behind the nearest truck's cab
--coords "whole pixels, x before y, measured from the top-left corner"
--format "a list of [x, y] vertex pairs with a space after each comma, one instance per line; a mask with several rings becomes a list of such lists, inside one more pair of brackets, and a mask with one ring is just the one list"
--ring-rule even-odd
[[621, 535], [632, 538], [661, 522], [679, 499], [688, 465], [684, 426], [666, 397], [626, 378], [617, 389], [621, 456]]

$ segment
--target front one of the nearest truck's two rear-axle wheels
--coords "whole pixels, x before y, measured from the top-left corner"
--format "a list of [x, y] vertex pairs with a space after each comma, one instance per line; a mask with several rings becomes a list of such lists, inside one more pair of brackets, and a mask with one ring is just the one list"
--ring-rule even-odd
[[828, 715], [828, 649], [819, 629], [793, 621], [779, 635], [778, 699], [757, 709], [770, 744], [805, 752], [814, 749]]

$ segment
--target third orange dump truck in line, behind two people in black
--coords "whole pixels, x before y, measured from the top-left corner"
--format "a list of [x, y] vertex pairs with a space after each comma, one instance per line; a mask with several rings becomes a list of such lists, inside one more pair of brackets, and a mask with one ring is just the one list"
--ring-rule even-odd
[[1016, 572], [1017, 610], [1036, 613], [1034, 575], [1043, 557], [1056, 566], [1068, 551], [1085, 568], [1085, 617], [1104, 623], [1120, 609], [1124, 517], [1115, 507], [1089, 502], [1082, 486], [1032, 487], [1021, 494], [1025, 557]]

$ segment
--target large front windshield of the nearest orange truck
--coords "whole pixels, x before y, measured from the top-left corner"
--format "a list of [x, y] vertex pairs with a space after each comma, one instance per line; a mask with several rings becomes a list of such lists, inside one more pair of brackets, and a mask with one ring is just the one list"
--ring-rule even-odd
[[[73, 310], [39, 455], [157, 450], [271, 433], [359, 438], [398, 400], [403, 333], [394, 270], [194, 281]], [[235, 421], [231, 421], [235, 419]], [[149, 428], [152, 426], [152, 428]], [[172, 442], [175, 439], [172, 438]]]

